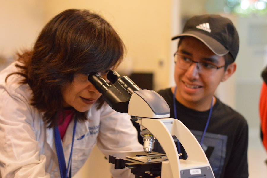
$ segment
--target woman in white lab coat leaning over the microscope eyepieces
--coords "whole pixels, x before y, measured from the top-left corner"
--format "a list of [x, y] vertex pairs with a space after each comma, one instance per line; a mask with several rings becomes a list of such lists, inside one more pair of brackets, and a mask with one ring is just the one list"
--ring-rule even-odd
[[87, 10], [47, 23], [33, 49], [0, 73], [0, 177], [71, 177], [95, 144], [106, 156], [142, 150], [129, 116], [87, 79], [93, 71], [105, 78], [124, 49], [110, 24]]

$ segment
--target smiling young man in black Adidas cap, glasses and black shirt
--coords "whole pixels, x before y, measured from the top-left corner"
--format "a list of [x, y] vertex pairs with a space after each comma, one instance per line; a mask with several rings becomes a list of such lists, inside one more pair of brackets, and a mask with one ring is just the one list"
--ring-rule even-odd
[[[239, 37], [228, 18], [194, 16], [187, 20], [174, 54], [176, 86], [160, 90], [171, 118], [194, 134], [216, 178], [248, 177], [248, 125], [243, 116], [214, 96], [220, 82], [236, 70]], [[187, 158], [182, 145], [177, 150]], [[156, 142], [154, 150], [162, 152]]]

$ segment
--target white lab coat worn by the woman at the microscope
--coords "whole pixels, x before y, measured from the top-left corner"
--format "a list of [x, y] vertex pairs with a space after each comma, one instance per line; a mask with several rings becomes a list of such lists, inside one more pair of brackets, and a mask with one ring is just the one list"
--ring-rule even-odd
[[[0, 73], [0, 177], [60, 177], [53, 129], [46, 128], [42, 113], [30, 103], [31, 89], [20, 85], [14, 63]], [[72, 153], [72, 175], [83, 166], [94, 145], [104, 155], [142, 151], [137, 131], [127, 114], [115, 112], [107, 104], [96, 110], [93, 105], [88, 120], [77, 122]], [[66, 164], [71, 149], [73, 120], [63, 139]], [[101, 166], [101, 165], [100, 165]], [[101, 173], [100, 173], [101, 174]], [[114, 178], [134, 177], [128, 169], [111, 168]]]

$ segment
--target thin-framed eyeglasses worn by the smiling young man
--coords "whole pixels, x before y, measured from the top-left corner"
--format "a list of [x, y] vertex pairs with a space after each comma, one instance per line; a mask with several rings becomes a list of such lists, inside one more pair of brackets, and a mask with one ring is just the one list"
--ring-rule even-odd
[[225, 67], [225, 66], [216, 66], [209, 62], [204, 61], [193, 61], [192, 59], [185, 57], [183, 55], [179, 55], [177, 52], [174, 53], [174, 62], [177, 63], [180, 69], [187, 70], [193, 63], [196, 63], [198, 72], [201, 74], [214, 74], [218, 69]]

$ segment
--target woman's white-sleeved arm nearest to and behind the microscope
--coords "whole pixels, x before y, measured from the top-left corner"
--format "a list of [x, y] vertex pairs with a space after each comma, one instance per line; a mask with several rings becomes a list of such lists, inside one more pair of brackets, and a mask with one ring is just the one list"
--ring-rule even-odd
[[[142, 151], [143, 146], [137, 139], [137, 131], [130, 121], [128, 114], [114, 111], [107, 104], [103, 106], [100, 130], [98, 135], [98, 148], [106, 155]], [[128, 169], [111, 168], [113, 178], [134, 177]]]

